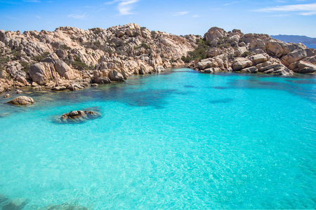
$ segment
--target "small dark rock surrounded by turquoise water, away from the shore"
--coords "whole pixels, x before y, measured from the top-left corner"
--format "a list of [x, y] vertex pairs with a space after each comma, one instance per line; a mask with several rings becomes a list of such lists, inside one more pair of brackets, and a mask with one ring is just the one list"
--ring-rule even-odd
[[84, 123], [86, 120], [100, 118], [101, 114], [96, 111], [70, 111], [64, 113], [55, 123]]

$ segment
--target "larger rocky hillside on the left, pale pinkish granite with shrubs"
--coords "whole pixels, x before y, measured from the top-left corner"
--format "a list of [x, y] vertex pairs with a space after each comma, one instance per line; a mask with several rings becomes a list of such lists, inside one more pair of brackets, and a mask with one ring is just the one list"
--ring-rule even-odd
[[0, 92], [32, 85], [76, 90], [123, 81], [131, 74], [184, 66], [192, 40], [136, 24], [108, 29], [59, 27], [55, 31], [0, 31]]

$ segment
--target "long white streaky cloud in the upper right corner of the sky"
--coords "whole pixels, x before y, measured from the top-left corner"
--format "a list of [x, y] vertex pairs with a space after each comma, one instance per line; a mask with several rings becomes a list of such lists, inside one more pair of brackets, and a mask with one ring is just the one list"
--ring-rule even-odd
[[316, 3], [307, 3], [307, 4], [294, 4], [287, 6], [275, 6], [268, 8], [261, 8], [255, 10], [257, 12], [301, 12], [299, 15], [316, 15]]

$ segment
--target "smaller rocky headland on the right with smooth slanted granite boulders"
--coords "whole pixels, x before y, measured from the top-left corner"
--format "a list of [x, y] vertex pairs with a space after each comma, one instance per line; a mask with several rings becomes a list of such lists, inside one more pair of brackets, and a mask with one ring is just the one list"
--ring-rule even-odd
[[294, 72], [316, 73], [315, 49], [308, 49], [303, 44], [284, 43], [267, 34], [243, 34], [237, 29], [226, 32], [213, 27], [204, 35], [204, 42], [208, 45], [204, 48], [204, 56], [193, 62], [190, 62], [190, 55], [195, 53], [183, 58], [190, 62], [187, 66], [197, 71], [259, 71], [285, 76]]

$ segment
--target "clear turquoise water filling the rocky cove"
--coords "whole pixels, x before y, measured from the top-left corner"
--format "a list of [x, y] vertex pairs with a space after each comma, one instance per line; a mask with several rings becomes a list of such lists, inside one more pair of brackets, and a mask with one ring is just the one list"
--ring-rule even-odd
[[[315, 76], [177, 69], [25, 95], [0, 99], [0, 194], [24, 209], [316, 208]], [[52, 123], [90, 107], [103, 118]]]

